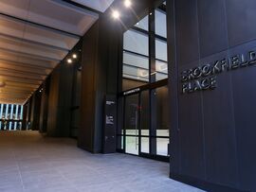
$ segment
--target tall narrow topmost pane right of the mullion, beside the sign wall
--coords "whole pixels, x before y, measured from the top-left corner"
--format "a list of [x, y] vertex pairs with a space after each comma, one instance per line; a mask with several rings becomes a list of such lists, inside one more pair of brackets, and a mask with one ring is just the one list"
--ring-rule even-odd
[[155, 9], [155, 34], [166, 38], [166, 13], [163, 10]]

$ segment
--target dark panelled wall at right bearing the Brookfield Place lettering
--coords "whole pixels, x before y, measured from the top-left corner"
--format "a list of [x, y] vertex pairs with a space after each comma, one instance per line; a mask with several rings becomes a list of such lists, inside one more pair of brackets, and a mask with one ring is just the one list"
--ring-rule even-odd
[[[171, 177], [209, 184], [215, 191], [255, 191], [256, 28], [251, 24], [256, 4], [181, 0], [169, 1], [167, 7]], [[225, 66], [212, 75], [214, 90], [181, 94], [182, 72], [220, 61]]]

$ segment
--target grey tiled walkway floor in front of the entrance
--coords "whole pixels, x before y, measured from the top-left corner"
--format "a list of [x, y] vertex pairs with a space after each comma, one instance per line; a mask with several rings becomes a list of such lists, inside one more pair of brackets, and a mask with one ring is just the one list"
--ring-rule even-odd
[[0, 192], [199, 192], [168, 178], [167, 163], [91, 154], [68, 138], [0, 131]]

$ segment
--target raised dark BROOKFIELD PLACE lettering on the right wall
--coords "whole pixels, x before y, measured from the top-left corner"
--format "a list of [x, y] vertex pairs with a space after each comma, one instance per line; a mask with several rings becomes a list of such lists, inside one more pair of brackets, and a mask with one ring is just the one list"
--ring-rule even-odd
[[217, 75], [256, 64], [256, 51], [238, 54], [222, 60], [213, 61], [202, 66], [181, 72], [181, 93], [213, 90], [217, 87]]

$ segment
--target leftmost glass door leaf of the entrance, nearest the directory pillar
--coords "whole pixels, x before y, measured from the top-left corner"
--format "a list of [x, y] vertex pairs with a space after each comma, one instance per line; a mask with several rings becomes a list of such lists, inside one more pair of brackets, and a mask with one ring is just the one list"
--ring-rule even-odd
[[125, 96], [124, 106], [125, 152], [138, 155], [139, 151], [139, 95]]

